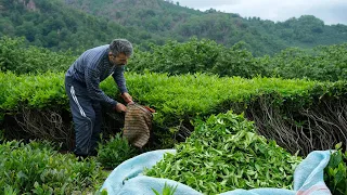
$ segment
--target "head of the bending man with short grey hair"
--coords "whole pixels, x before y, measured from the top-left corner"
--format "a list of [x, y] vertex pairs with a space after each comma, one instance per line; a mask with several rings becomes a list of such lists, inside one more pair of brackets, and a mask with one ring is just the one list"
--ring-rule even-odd
[[126, 65], [132, 54], [132, 44], [126, 39], [115, 39], [110, 43], [108, 58], [113, 65]]

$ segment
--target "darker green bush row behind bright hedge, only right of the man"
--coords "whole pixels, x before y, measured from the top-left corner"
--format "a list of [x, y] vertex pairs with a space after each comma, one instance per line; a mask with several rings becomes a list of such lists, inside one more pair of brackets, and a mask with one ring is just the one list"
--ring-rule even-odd
[[321, 46], [312, 50], [287, 48], [273, 56], [255, 57], [244, 42], [226, 48], [213, 40], [196, 38], [187, 42], [168, 41], [137, 52], [129, 68], [155, 73], [211, 73], [220, 76], [254, 78], [309, 78], [337, 81], [347, 77], [347, 43]]

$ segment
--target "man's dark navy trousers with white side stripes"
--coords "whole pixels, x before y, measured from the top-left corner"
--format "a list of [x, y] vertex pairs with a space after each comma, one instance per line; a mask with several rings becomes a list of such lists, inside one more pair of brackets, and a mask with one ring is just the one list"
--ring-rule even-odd
[[78, 156], [95, 154], [101, 131], [101, 105], [91, 100], [87, 87], [72, 77], [65, 77], [65, 91], [68, 95], [75, 128], [75, 150]]

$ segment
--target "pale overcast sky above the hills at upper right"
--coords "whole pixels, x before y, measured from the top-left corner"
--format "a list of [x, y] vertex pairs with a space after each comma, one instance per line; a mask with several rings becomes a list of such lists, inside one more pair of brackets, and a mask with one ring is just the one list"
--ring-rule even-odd
[[195, 10], [210, 8], [226, 13], [239, 13], [242, 17], [283, 22], [300, 15], [314, 15], [326, 25], [347, 25], [347, 0], [174, 0], [182, 6]]

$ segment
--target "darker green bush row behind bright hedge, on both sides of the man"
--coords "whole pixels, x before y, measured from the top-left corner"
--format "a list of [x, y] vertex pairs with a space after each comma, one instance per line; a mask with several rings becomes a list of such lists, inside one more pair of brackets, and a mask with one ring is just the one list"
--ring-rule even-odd
[[[80, 53], [82, 51], [79, 51]], [[76, 53], [76, 51], [75, 51]], [[52, 52], [27, 47], [23, 38], [0, 38], [0, 70], [16, 74], [64, 72], [77, 58], [72, 51]], [[287, 48], [274, 56], [254, 57], [244, 42], [226, 48], [213, 40], [192, 38], [168, 41], [136, 51], [128, 67], [132, 72], [208, 73], [243, 78], [281, 77], [337, 81], [347, 78], [347, 43], [321, 46], [313, 50]]]

